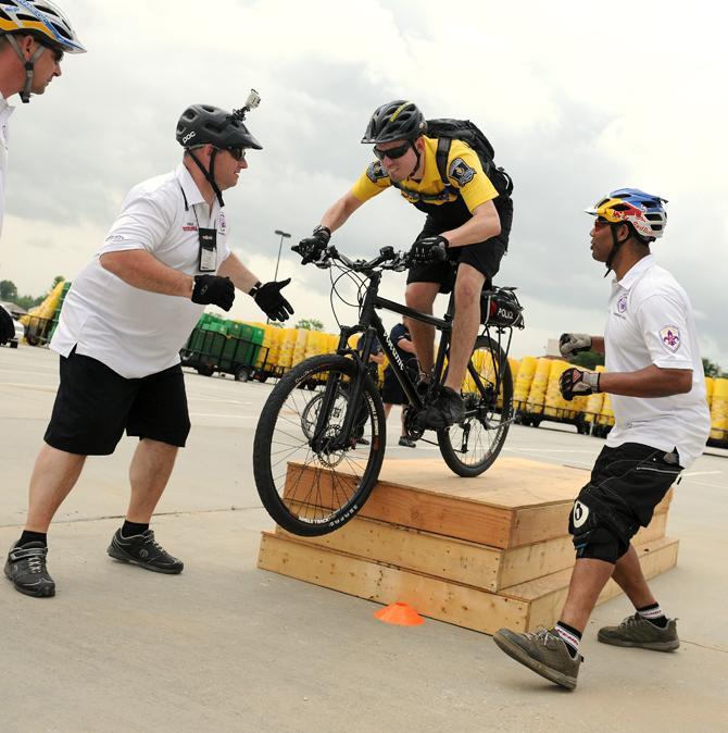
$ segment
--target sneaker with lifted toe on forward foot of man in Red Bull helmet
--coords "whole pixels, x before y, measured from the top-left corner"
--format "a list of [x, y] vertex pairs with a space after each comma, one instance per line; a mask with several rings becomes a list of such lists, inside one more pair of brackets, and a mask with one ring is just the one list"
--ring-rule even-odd
[[519, 661], [542, 678], [562, 687], [574, 689], [581, 655], [572, 657], [568, 647], [553, 629], [541, 629], [536, 633], [516, 634], [501, 629], [493, 635], [493, 642], [512, 659]]

